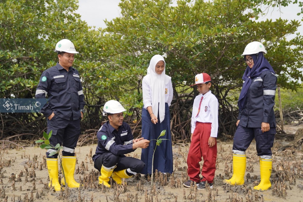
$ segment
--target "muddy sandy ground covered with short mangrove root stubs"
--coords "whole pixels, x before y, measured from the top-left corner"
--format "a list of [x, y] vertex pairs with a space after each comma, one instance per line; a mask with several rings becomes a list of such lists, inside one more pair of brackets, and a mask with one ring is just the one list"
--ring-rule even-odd
[[[291, 149], [276, 151], [287, 144], [293, 142], [275, 140], [272, 187], [264, 192], [253, 190], [260, 181], [254, 141], [247, 150], [245, 185], [234, 187], [222, 182], [232, 175], [232, 141], [218, 140], [213, 190], [182, 186], [188, 180], [186, 158], [189, 144], [173, 146], [175, 172], [168, 176], [168, 180], [156, 176], [153, 187], [141, 175], [126, 179], [122, 186], [99, 187], [99, 173], [91, 159], [96, 145], [78, 147], [75, 179], [84, 186], [63, 192], [48, 188], [45, 150], [38, 145], [0, 150], [0, 201], [303, 201], [303, 152]], [[140, 158], [140, 154], [141, 150], [137, 149], [129, 156]]]

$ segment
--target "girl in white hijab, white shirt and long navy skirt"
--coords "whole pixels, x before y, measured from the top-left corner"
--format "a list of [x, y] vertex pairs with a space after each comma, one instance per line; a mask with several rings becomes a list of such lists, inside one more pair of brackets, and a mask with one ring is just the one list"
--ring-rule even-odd
[[151, 141], [150, 146], [142, 149], [141, 160], [145, 167], [141, 174], [152, 174], [157, 169], [161, 173], [172, 173], [172, 146], [170, 131], [169, 106], [173, 97], [171, 77], [165, 75], [165, 61], [161, 55], [151, 58], [147, 75], [142, 80], [143, 108], [142, 108], [142, 137], [147, 140], [158, 139], [161, 131], [166, 130], [168, 139], [162, 141], [154, 155], [154, 170], [151, 171], [152, 156], [156, 141]]

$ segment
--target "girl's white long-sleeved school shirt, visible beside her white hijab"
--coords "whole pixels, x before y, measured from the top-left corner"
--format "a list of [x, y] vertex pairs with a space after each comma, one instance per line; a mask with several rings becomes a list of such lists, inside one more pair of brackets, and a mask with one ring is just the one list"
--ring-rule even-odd
[[[142, 80], [142, 92], [143, 92], [144, 109], [147, 109], [147, 107], [151, 106], [152, 89], [146, 82], [145, 78], [143, 78]], [[173, 89], [172, 89], [171, 80], [169, 80], [169, 82], [165, 84], [165, 103], [168, 104], [168, 107], [171, 105], [172, 97], [173, 97]]]

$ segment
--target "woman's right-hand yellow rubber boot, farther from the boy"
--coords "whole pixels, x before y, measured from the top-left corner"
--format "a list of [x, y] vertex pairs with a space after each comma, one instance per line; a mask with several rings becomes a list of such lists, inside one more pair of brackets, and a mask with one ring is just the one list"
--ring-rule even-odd
[[260, 175], [261, 182], [257, 186], [254, 187], [255, 190], [265, 191], [271, 187], [270, 183], [270, 175], [272, 168], [272, 159], [263, 159], [260, 158]]

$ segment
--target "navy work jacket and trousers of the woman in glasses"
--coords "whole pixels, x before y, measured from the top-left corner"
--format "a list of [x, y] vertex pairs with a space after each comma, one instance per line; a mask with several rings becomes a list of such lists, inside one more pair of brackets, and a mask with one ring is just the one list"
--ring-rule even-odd
[[[240, 120], [234, 136], [233, 153], [245, 154], [255, 137], [258, 156], [271, 159], [271, 147], [276, 134], [274, 113], [277, 77], [271, 71], [263, 71], [252, 78], [245, 107], [239, 112]], [[269, 123], [270, 130], [262, 133], [261, 123]]]

